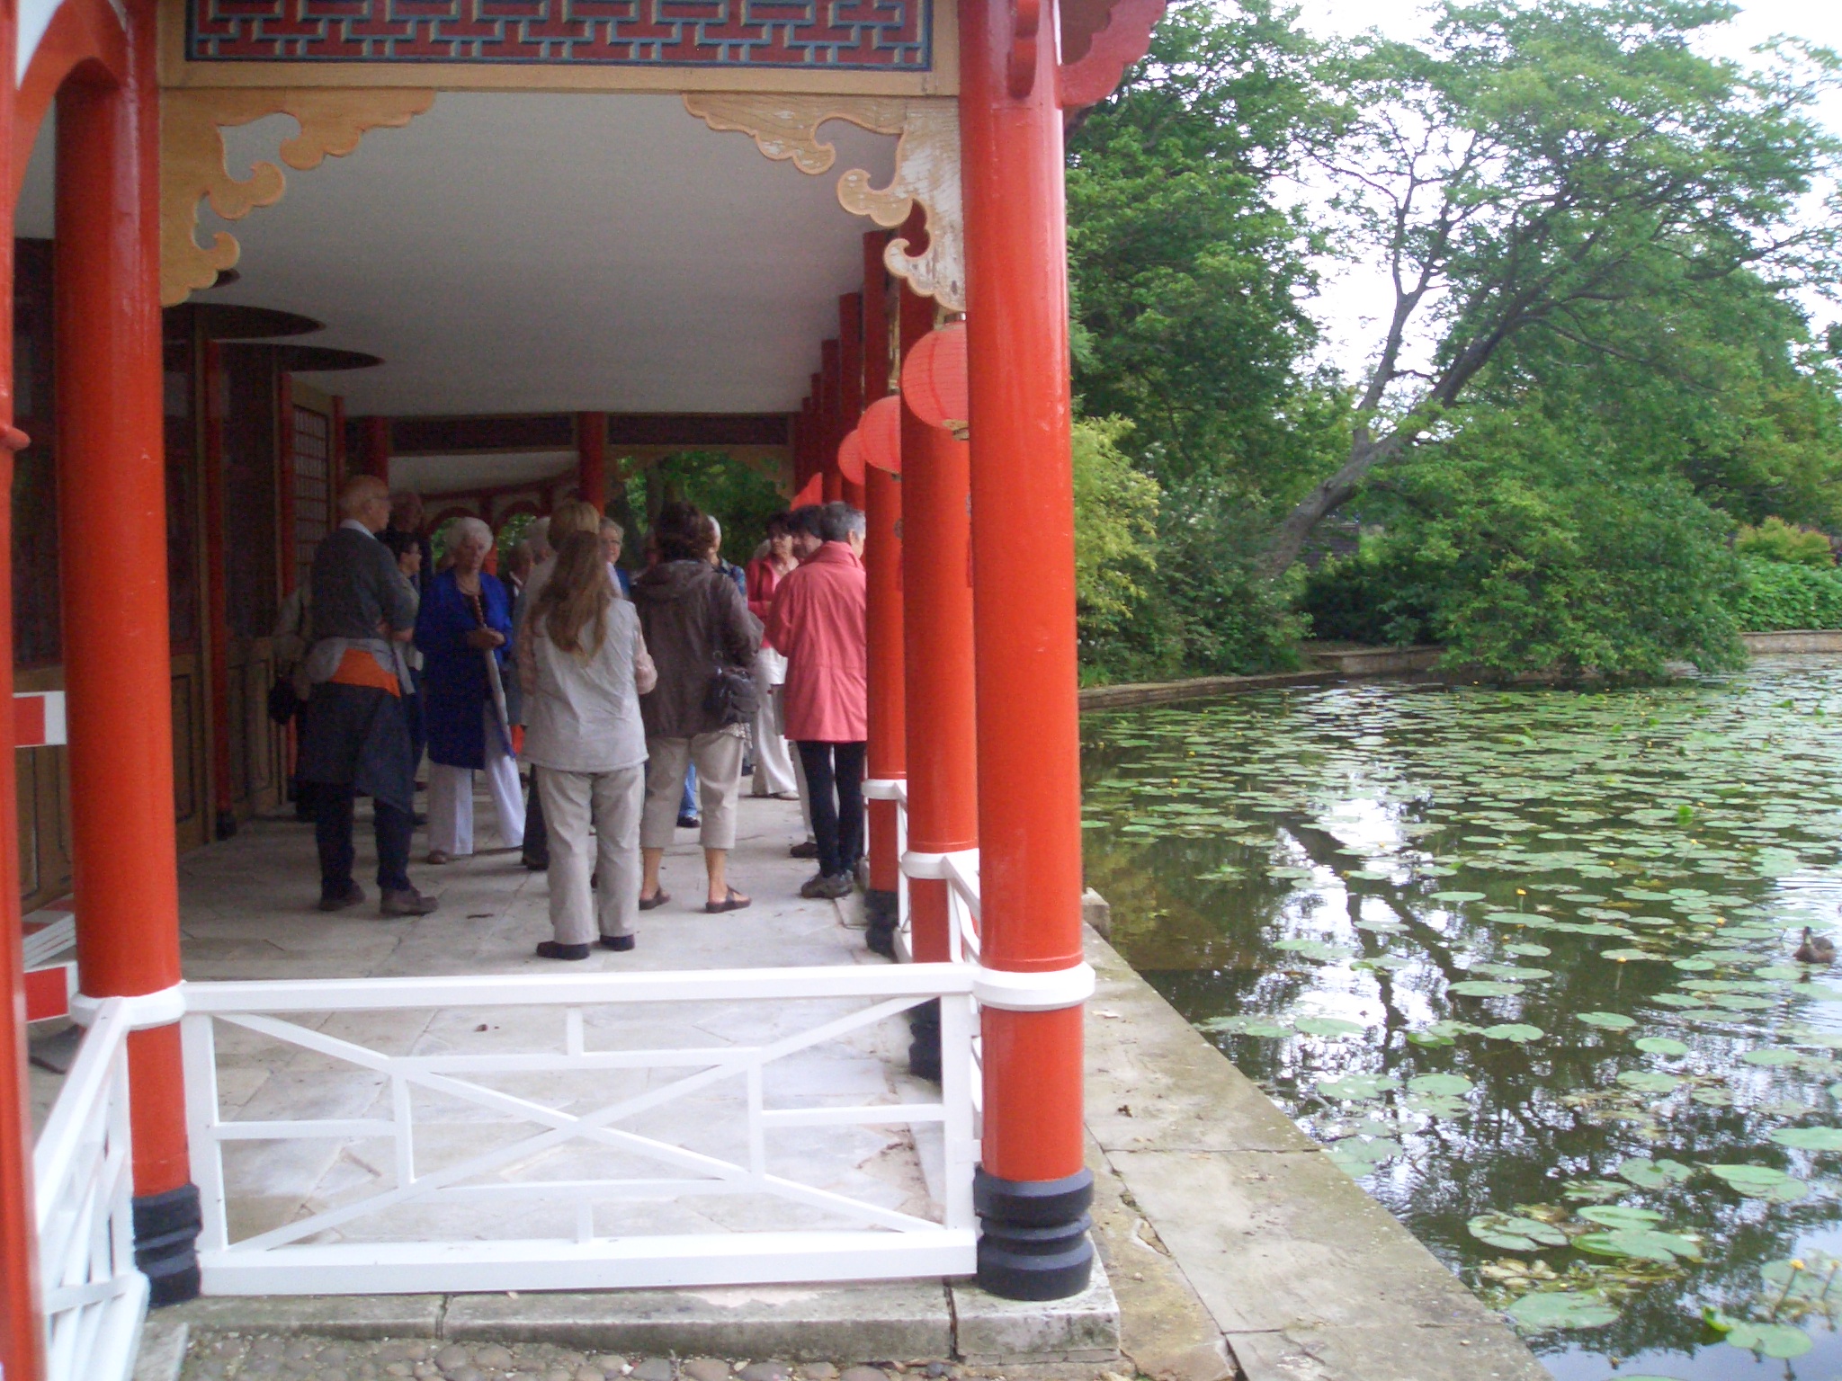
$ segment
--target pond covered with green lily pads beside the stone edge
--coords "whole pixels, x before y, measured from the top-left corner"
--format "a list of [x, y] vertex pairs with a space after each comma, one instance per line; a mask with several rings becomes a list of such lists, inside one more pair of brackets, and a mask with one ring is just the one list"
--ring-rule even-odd
[[1083, 737], [1114, 945], [1556, 1377], [1842, 1375], [1842, 667]]

